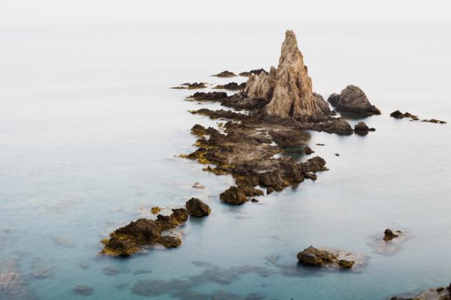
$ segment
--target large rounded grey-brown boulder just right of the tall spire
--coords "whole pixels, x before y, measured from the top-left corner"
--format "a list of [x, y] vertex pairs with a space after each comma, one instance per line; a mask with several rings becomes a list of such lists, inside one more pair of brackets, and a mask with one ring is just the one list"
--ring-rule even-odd
[[341, 94], [332, 94], [327, 101], [337, 111], [343, 113], [363, 113], [366, 115], [380, 115], [380, 110], [371, 105], [364, 91], [356, 85], [348, 85]]

